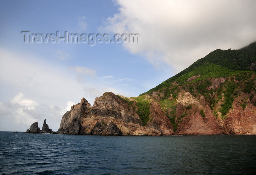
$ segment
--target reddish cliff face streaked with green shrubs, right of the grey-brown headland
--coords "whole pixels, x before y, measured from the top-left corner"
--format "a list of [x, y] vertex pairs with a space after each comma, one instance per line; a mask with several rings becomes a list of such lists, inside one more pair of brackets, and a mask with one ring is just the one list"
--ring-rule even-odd
[[[180, 85], [165, 99], [169, 104], [162, 103], [162, 109], [173, 115], [170, 119], [178, 135], [256, 134], [255, 82], [253, 74], [243, 81], [221, 77]], [[172, 98], [174, 94], [177, 96]]]

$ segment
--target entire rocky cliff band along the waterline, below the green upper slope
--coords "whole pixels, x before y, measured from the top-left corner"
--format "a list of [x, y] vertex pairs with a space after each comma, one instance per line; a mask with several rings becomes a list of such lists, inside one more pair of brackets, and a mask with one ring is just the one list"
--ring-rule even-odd
[[256, 134], [255, 87], [253, 74], [246, 81], [209, 78], [132, 98], [105, 92], [93, 107], [84, 98], [72, 106], [63, 115], [58, 133]]

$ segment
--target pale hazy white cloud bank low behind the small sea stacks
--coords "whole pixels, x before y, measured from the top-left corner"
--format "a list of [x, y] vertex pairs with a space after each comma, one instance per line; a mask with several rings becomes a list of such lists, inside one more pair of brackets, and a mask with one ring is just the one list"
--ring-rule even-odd
[[[43, 60], [32, 53], [27, 56], [0, 47], [0, 130], [26, 131], [34, 122], [41, 128], [46, 119], [49, 128], [57, 131], [62, 116], [83, 97], [92, 105], [106, 91], [127, 95], [111, 87], [114, 83], [98, 78], [94, 69], [67, 69]], [[78, 75], [89, 78], [79, 83]]]

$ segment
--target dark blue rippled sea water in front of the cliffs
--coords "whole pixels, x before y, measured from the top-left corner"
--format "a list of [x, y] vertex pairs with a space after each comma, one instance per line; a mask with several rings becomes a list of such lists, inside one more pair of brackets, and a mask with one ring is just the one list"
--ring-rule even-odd
[[0, 132], [0, 174], [255, 174], [256, 136]]

